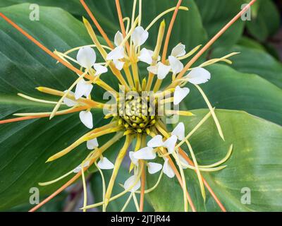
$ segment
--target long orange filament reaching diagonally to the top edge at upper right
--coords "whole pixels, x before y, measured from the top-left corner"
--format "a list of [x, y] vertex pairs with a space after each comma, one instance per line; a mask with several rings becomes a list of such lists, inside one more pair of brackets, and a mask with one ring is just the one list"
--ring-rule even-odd
[[226, 32], [227, 29], [230, 28], [231, 25], [233, 25], [233, 23], [235, 23], [236, 20], [238, 20], [238, 19], [243, 15], [243, 13], [245, 13], [245, 12], [250, 8], [250, 6], [252, 6], [252, 4], [255, 3], [255, 1], [257, 1], [257, 0], [252, 0], [249, 4], [247, 4], [247, 6], [245, 6], [245, 7], [242, 9], [242, 11], [240, 11], [232, 20], [230, 20], [230, 22], [227, 23], [227, 24], [212, 38], [212, 40], [209, 40], [209, 42], [207, 42], [207, 44], [206, 44], [204, 47], [202, 47], [202, 49], [195, 55], [195, 57], [193, 57], [193, 58], [188, 62], [188, 64], [186, 64], [186, 66], [184, 67], [183, 71], [181, 71], [181, 72], [179, 73], [179, 75], [177, 76], [177, 78], [182, 78], [183, 75], [185, 74], [185, 72], [188, 71], [188, 69], [190, 69], [190, 66], [192, 66], [192, 64], [194, 64], [195, 61], [197, 61], [197, 59], [199, 59], [199, 58], [202, 56], [202, 54], [203, 54], [204, 52], [206, 52], [207, 49], [209, 49], [209, 47], [211, 47], [212, 44], [214, 44], [214, 42], [216, 42], [216, 40], [218, 40], [219, 37], [221, 37], [221, 35], [223, 35], [224, 32]]

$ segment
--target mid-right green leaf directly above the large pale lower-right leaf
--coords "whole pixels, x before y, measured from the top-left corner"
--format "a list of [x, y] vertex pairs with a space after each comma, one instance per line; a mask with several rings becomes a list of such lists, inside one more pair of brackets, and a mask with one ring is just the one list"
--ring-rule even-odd
[[[201, 85], [216, 108], [238, 109], [263, 119], [282, 124], [282, 90], [255, 74], [240, 73], [228, 66], [207, 67], [212, 79]], [[207, 107], [199, 91], [192, 85], [183, 105], [187, 109]]]

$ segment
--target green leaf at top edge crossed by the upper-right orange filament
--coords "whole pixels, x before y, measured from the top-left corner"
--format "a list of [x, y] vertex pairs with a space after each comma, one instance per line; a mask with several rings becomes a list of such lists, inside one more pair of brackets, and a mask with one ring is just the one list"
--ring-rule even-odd
[[[207, 30], [209, 38], [214, 37], [224, 25], [226, 25], [239, 11], [244, 3], [243, 0], [196, 0], [195, 1]], [[245, 23], [243, 20], [235, 22], [222, 37], [214, 44], [214, 47], [232, 46], [243, 34]]]

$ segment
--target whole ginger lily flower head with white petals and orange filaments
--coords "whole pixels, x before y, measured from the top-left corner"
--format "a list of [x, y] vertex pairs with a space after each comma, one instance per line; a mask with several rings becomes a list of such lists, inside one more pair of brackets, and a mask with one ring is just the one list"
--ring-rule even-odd
[[[142, 1], [139, 1], [140, 6], [142, 6]], [[202, 192], [202, 197], [205, 199], [204, 178], [202, 177], [201, 172], [213, 172], [223, 169], [226, 166], [221, 165], [228, 159], [232, 152], [231, 145], [228, 154], [225, 158], [223, 158], [223, 160], [210, 166], [197, 164], [197, 158], [193, 153], [192, 145], [190, 145], [190, 136], [192, 136], [192, 133], [197, 131], [197, 128], [199, 128], [204, 121], [207, 120], [207, 118], [210, 116], [213, 117], [218, 128], [219, 135], [224, 140], [223, 132], [221, 130], [219, 120], [216, 118], [214, 108], [209, 103], [207, 96], [204, 94], [204, 91], [199, 85], [207, 83], [211, 78], [211, 74], [207, 71], [207, 69], [204, 69], [204, 67], [219, 61], [231, 62], [228, 58], [238, 53], [228, 54], [225, 57], [221, 57], [221, 59], [210, 59], [203, 64], [195, 66], [194, 68], [192, 68], [192, 65], [195, 64], [197, 59], [217, 40], [217, 38], [220, 37], [220, 35], [223, 34], [223, 32], [228, 29], [228, 27], [236, 19], [240, 18], [241, 13], [247, 11], [247, 9], [255, 3], [255, 0], [252, 0], [250, 4], [243, 9], [243, 11], [238, 13], [238, 15], [231, 20], [231, 23], [228, 23], [228, 26], [225, 26], [222, 30], [220, 30], [220, 32], [202, 49], [200, 49], [200, 46], [195, 47], [195, 49], [192, 49], [186, 54], [185, 44], [175, 43], [175, 47], [172, 49], [171, 54], [168, 57], [166, 56], [168, 42], [171, 35], [173, 35], [171, 31], [178, 11], [188, 10], [188, 8], [181, 6], [181, 0], [178, 1], [176, 7], [172, 8], [172, 10], [168, 9], [159, 16], [156, 15], [157, 17], [147, 28], [142, 27], [142, 7], [139, 8], [139, 14], [137, 17], [135, 17], [135, 11], [133, 10], [131, 27], [127, 30], [125, 30], [123, 23], [123, 15], [121, 13], [119, 1], [116, 0], [121, 32], [116, 32], [114, 37], [115, 46], [106, 35], [101, 25], [99, 25], [97, 20], [94, 18], [94, 15], [85, 2], [82, 0], [80, 0], [80, 2], [86, 9], [87, 13], [89, 13], [90, 18], [92, 18], [102, 37], [104, 37], [107, 45], [102, 45], [99, 42], [94, 29], [90, 23], [83, 18], [83, 23], [85, 24], [85, 28], [89, 32], [93, 43], [84, 47], [75, 47], [64, 53], [57, 51], [51, 52], [35, 40], [34, 37], [28, 35], [22, 28], [18, 27], [18, 25], [13, 23], [13, 21], [0, 13], [1, 18], [4, 18], [4, 20], [22, 32], [23, 35], [32, 40], [32, 42], [35, 42], [35, 44], [47, 52], [47, 54], [78, 75], [78, 78], [73, 82], [73, 85], [71, 85], [68, 90], [54, 90], [52, 88], [45, 87], [37, 88], [37, 90], [42, 93], [59, 97], [53, 111], [49, 112], [47, 116], [46, 112], [36, 114], [16, 114], [16, 116], [19, 117], [18, 119], [8, 119], [2, 123], [34, 119], [37, 117], [49, 117], [52, 119], [53, 117], [61, 114], [79, 112], [80, 121], [82, 121], [82, 124], [85, 124], [90, 131], [85, 133], [85, 135], [79, 138], [78, 141], [75, 141], [70, 146], [49, 157], [47, 162], [54, 161], [64, 155], [67, 155], [71, 151], [75, 151], [75, 148], [82, 144], [85, 145], [85, 148], [90, 150], [90, 153], [75, 169], [71, 169], [70, 172], [66, 173], [59, 179], [54, 179], [51, 182], [40, 183], [40, 185], [47, 186], [49, 184], [56, 183], [60, 179], [63, 179], [74, 172], [74, 179], [67, 182], [62, 187], [64, 188], [69, 186], [81, 175], [84, 181], [83, 187], [86, 194], [84, 204], [82, 206], [84, 211], [97, 206], [103, 206], [103, 210], [106, 210], [106, 206], [109, 202], [122, 196], [123, 194], [126, 194], [126, 192], [130, 192], [133, 195], [135, 192], [140, 192], [140, 208], [137, 206], [137, 209], [142, 210], [145, 194], [157, 188], [163, 173], [169, 178], [176, 176], [180, 187], [183, 189], [183, 204], [185, 211], [188, 211], [188, 204], [190, 208], [195, 211], [195, 205], [191, 200], [185, 185], [186, 182], [183, 169], [192, 169], [197, 173], [200, 191]], [[134, 1], [133, 9], [135, 8], [137, 8], [137, 0]], [[149, 28], [151, 28], [155, 23], [158, 23], [161, 16], [164, 16], [171, 11], [174, 12], [166, 35], [166, 23], [163, 20], [159, 24], [158, 36], [152, 37], [156, 40], [156, 47], [154, 47], [154, 49], [146, 49], [145, 47], [141, 48], [143, 44], [146, 44], [149, 37]], [[183, 43], [185, 43], [185, 41], [186, 40], [183, 40]], [[200, 51], [197, 52], [199, 49]], [[73, 59], [68, 55], [71, 52], [76, 51], [78, 51], [76, 59]], [[99, 52], [104, 61], [97, 63], [96, 52]], [[195, 54], [194, 57], [184, 66], [183, 61], [188, 59], [188, 57], [191, 57], [193, 54]], [[159, 55], [162, 57], [159, 57]], [[70, 61], [74, 63], [71, 64]], [[147, 67], [147, 74], [140, 73], [140, 62], [149, 64]], [[118, 83], [120, 88], [122, 87], [121, 90], [123, 92], [118, 93], [118, 90], [112, 88], [111, 85], [104, 80], [103, 75], [108, 73], [108, 71], [111, 71], [111, 73], [113, 73], [118, 79]], [[164, 79], [168, 79], [170, 81], [170, 85], [162, 88], [161, 83]], [[188, 83], [190, 83], [190, 85], [195, 85], [197, 90], [200, 91], [200, 95], [202, 95], [204, 100], [207, 102], [207, 107], [210, 112], [202, 119], [202, 121], [200, 121], [200, 124], [196, 126], [195, 129], [188, 131], [187, 135], [185, 135], [185, 124], [183, 122], [178, 124], [175, 123], [175, 128], [170, 132], [168, 131], [166, 125], [166, 119], [168, 119], [171, 115], [184, 117], [193, 116], [191, 112], [174, 109], [175, 106], [180, 105], [180, 103], [185, 100], [185, 97], [189, 95], [190, 89], [186, 87]], [[95, 95], [92, 94], [92, 90], [94, 90], [97, 86], [114, 95], [114, 104], [96, 101]], [[29, 100], [35, 100], [35, 98], [28, 97], [27, 95], [21, 96]], [[47, 102], [46, 100], [44, 101]], [[173, 109], [166, 107], [166, 105], [171, 106], [171, 103], [173, 103]], [[54, 105], [54, 102], [50, 102], [50, 104]], [[61, 105], [66, 105], [68, 108], [60, 109]], [[111, 118], [111, 122], [99, 128], [93, 128], [92, 109], [106, 110], [108, 113], [105, 115], [105, 118]], [[97, 138], [99, 139], [101, 136], [111, 133], [113, 134], [112, 138], [106, 143], [99, 145]], [[106, 150], [112, 145], [115, 145], [115, 143], [121, 140], [123, 136], [125, 136], [125, 142], [121, 150], [118, 150], [118, 156], [113, 163], [106, 157]], [[132, 147], [133, 141], [136, 141], [135, 147]], [[190, 153], [192, 160], [188, 157], [188, 153], [181, 148], [183, 145], [185, 145], [186, 150]], [[134, 150], [129, 150], [130, 148], [134, 148]], [[131, 160], [130, 171], [133, 170], [133, 175], [128, 177], [125, 181], [123, 185], [125, 191], [117, 196], [111, 196], [116, 175], [118, 174], [118, 170], [120, 169], [125, 156], [128, 156]], [[106, 187], [106, 184], [103, 184], [103, 188], [106, 193], [104, 194], [102, 203], [95, 203], [92, 205], [87, 204], [87, 192], [84, 179], [84, 172], [91, 167], [91, 165], [95, 165], [97, 167], [99, 172], [102, 174], [102, 177], [102, 169], [112, 170], [109, 185]], [[147, 175], [157, 174], [160, 172], [157, 184], [147, 190], [145, 180], [146, 172], [148, 172]], [[208, 184], [206, 183], [205, 186], [208, 186]], [[212, 193], [213, 197], [216, 197], [210, 187], [209, 191]], [[53, 196], [50, 197], [52, 198]], [[47, 198], [47, 201], [48, 200], [49, 198]], [[43, 203], [45, 202], [46, 201], [43, 201]], [[216, 202], [219, 203], [219, 206], [224, 211], [225, 208], [223, 208], [217, 197]], [[39, 206], [42, 206], [43, 203], [40, 203]], [[39, 206], [33, 208], [32, 210], [36, 210]]]

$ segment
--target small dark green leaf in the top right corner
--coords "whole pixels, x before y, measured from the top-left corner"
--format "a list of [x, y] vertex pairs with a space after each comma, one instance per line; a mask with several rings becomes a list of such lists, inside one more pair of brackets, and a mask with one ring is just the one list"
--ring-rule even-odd
[[278, 8], [271, 0], [259, 2], [259, 10], [251, 21], [247, 21], [247, 31], [260, 42], [275, 35], [280, 25]]

